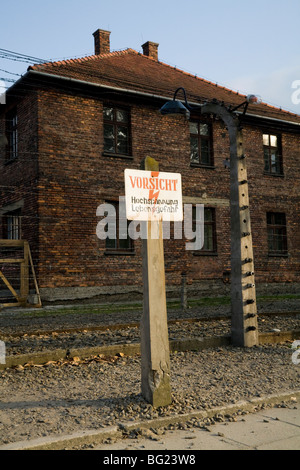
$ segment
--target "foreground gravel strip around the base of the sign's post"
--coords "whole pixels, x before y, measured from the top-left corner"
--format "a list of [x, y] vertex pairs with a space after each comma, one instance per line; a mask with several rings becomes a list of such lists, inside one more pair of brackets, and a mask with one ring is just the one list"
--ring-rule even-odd
[[[140, 394], [140, 357], [103, 357], [0, 372], [0, 443], [150, 420], [299, 389], [289, 345], [171, 354], [171, 405]], [[220, 417], [219, 417], [220, 418]], [[223, 419], [223, 417], [222, 417]], [[193, 421], [208, 426], [213, 420]]]

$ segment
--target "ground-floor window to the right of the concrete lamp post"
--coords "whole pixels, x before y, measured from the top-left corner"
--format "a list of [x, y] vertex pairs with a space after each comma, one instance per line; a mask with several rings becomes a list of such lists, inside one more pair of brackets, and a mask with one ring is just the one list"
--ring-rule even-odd
[[267, 212], [269, 255], [287, 255], [286, 217], [282, 212]]

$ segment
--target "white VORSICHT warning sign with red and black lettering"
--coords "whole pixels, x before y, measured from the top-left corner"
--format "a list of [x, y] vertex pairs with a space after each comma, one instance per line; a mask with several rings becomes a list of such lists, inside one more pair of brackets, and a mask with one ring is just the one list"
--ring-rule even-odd
[[126, 169], [128, 220], [183, 220], [181, 175]]

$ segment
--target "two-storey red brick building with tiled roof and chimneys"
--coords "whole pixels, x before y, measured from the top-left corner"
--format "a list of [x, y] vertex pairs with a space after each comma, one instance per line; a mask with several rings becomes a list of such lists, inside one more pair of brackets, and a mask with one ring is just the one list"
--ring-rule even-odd
[[[145, 157], [182, 175], [184, 203], [205, 205], [205, 244], [165, 240], [166, 285], [187, 273], [196, 292], [222, 293], [230, 273], [228, 132], [215, 116], [162, 116], [184, 87], [194, 105], [245, 96], [143, 53], [110, 52], [94, 33], [95, 54], [29, 67], [0, 105], [0, 238], [29, 241], [43, 300], [141, 292], [141, 240], [99, 240], [97, 207], [118, 205], [125, 168]], [[250, 90], [251, 91], [251, 90]], [[239, 109], [243, 112], [243, 109]], [[267, 104], [241, 116], [247, 156], [256, 284], [300, 283], [300, 116]], [[171, 232], [172, 233], [172, 232]], [[0, 266], [1, 268], [1, 266]]]

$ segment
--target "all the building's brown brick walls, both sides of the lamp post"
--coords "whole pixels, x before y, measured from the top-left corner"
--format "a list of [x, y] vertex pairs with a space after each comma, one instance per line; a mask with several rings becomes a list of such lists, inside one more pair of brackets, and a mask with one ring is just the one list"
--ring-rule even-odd
[[[139, 169], [146, 156], [155, 158], [161, 171], [182, 174], [185, 200], [207, 201], [216, 211], [217, 255], [195, 255], [185, 250], [185, 240], [165, 240], [167, 287], [179, 286], [183, 271], [192, 284], [203, 280], [222, 283], [224, 273], [230, 270], [229, 170], [223, 166], [229, 139], [225, 126], [213, 121], [215, 168], [191, 168], [189, 128], [183, 117], [163, 117], [158, 107], [134, 101], [126, 104], [131, 109], [132, 158], [102, 155], [103, 103], [98, 97], [41, 89], [37, 101], [28, 97], [19, 105], [20, 123], [22, 115], [26, 123], [24, 156], [28, 156], [2, 165], [2, 183], [17, 182], [18, 188], [13, 198], [5, 192], [1, 205], [24, 197], [28, 223], [24, 223], [23, 236], [39, 247], [36, 259], [42, 291], [141, 287], [141, 241], [134, 242], [133, 254], [107, 254], [105, 242], [96, 236], [96, 210], [99, 204], [124, 195], [124, 169]], [[300, 282], [299, 136], [282, 136], [281, 178], [263, 174], [261, 134], [257, 127], [244, 129], [256, 280]], [[267, 211], [287, 215], [287, 258], [268, 255]]]

